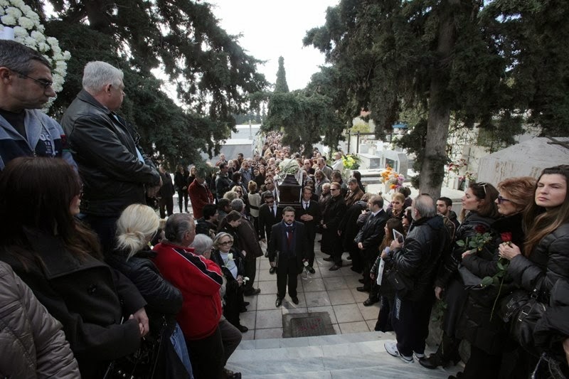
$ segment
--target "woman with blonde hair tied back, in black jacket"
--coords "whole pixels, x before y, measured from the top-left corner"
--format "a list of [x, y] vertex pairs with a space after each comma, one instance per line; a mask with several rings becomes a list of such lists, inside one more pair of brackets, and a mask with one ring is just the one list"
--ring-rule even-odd
[[[176, 324], [182, 294], [161, 276], [151, 261], [156, 252], [148, 245], [159, 222], [156, 212], [149, 206], [129, 205], [117, 220], [117, 247], [107, 256], [107, 263], [129, 278], [148, 303], [151, 338], [158, 341], [162, 337], [164, 346], [159, 353], [157, 377], [188, 378], [192, 373], [191, 363], [181, 329]], [[179, 359], [173, 354], [174, 346]]]

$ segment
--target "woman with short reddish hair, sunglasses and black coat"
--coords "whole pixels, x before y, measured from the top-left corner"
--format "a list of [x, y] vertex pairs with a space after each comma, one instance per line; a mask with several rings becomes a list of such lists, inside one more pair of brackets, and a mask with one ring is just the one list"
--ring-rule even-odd
[[[498, 247], [503, 242], [523, 245], [522, 212], [533, 198], [536, 179], [529, 176], [508, 178], [498, 184], [496, 199], [501, 217], [490, 225], [493, 240], [488, 248], [469, 250], [462, 254], [462, 265], [476, 277], [493, 277], [498, 271]], [[502, 353], [513, 350], [506, 324], [499, 316], [498, 300], [515, 289], [509, 276], [501, 284], [473, 287], [468, 290], [464, 313], [459, 321], [457, 335], [471, 345], [471, 355], [462, 378], [501, 378]]]

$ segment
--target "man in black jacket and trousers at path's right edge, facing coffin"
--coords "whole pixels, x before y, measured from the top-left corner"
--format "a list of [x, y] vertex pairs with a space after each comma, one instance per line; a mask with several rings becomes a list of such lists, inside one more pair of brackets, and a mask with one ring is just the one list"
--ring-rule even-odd
[[358, 287], [359, 292], [368, 291], [369, 297], [363, 302], [363, 305], [368, 306], [379, 301], [379, 286], [375, 281], [369, 277], [369, 272], [373, 262], [376, 262], [378, 257], [378, 247], [385, 236], [385, 223], [389, 216], [383, 210], [383, 198], [381, 196], [373, 196], [368, 201], [369, 211], [363, 220], [363, 225], [354, 238], [354, 242], [361, 252], [363, 263], [363, 286]]

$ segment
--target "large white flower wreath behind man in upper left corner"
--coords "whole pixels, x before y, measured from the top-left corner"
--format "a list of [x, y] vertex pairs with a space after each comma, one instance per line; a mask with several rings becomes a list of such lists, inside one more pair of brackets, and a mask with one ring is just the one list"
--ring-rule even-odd
[[[52, 67], [53, 85], [55, 92], [63, 89], [65, 75], [67, 75], [67, 61], [70, 60], [69, 51], [61, 51], [57, 38], [46, 37], [43, 32], [46, 28], [40, 23], [36, 12], [24, 4], [23, 0], [0, 0], [0, 33], [6, 35], [4, 28], [14, 29], [14, 41], [19, 42], [33, 50], [37, 50], [48, 60]], [[48, 110], [54, 98], [46, 104]]]

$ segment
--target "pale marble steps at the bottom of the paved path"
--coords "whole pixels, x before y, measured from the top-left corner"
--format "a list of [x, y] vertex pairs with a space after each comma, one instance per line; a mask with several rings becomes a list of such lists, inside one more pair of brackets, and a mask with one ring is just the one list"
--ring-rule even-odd
[[[393, 333], [366, 332], [334, 336], [242, 341], [226, 367], [243, 378], [447, 378], [459, 365], [428, 370], [403, 363], [383, 348]], [[427, 351], [427, 353], [432, 350]]]

